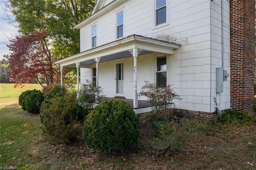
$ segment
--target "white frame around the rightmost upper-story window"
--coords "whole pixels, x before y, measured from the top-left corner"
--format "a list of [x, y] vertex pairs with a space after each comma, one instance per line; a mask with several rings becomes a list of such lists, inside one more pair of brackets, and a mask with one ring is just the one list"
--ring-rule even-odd
[[[156, 0], [154, 0], [153, 3], [154, 3], [154, 5], [153, 5], [153, 8], [154, 8], [154, 9], [152, 10], [152, 11], [153, 11], [153, 15], [152, 15], [152, 16], [154, 17], [154, 18], [153, 18], [153, 21], [154, 21], [154, 22], [152, 23], [152, 24], [153, 24], [153, 28], [156, 29], [156, 28], [160, 28], [160, 27], [162, 27], [162, 26], [169, 25], [169, 24], [170, 24], [170, 20], [169, 20], [169, 15], [170, 15], [170, 7], [169, 7], [169, 6], [170, 6], [170, 1], [169, 1], [169, 0], [166, 0], [166, 5], [165, 5], [165, 6], [166, 6], [166, 22], [165, 22], [165, 23], [158, 24], [158, 25], [156, 25], [156, 10], [157, 10], [157, 9], [156, 9]], [[154, 29], [153, 29], [153, 30], [154, 30]]]

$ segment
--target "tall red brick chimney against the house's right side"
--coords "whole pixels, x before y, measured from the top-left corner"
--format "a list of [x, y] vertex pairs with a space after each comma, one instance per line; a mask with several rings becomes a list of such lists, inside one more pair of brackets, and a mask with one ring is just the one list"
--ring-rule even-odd
[[230, 0], [230, 110], [254, 106], [255, 1]]

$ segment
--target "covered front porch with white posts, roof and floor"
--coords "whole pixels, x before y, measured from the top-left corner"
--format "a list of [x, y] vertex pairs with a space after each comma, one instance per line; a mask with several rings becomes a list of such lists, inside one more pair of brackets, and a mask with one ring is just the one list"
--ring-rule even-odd
[[[62, 70], [64, 67], [74, 67], [77, 69], [77, 95], [79, 95], [79, 69], [80, 68], [92, 68], [92, 65], [96, 67], [96, 85], [99, 82], [99, 63], [110, 62], [120, 60], [124, 58], [133, 57], [133, 98], [126, 99], [125, 96], [122, 100], [126, 100], [136, 112], [140, 112], [142, 108], [151, 108], [151, 106], [145, 105], [146, 101], [138, 100], [137, 90], [137, 57], [140, 55], [161, 53], [161, 54], [174, 54], [174, 49], [178, 49], [180, 45], [170, 42], [157, 40], [153, 38], [147, 38], [138, 35], [128, 36], [126, 38], [86, 50], [84, 52], [75, 54], [68, 58], [64, 58], [55, 62], [60, 64], [61, 71], [61, 85], [63, 84]], [[131, 73], [131, 72], [130, 72]], [[115, 78], [116, 79], [116, 78]], [[92, 80], [90, 80], [92, 81]], [[104, 89], [103, 89], [104, 91]], [[109, 96], [107, 96], [109, 97]], [[112, 97], [112, 96], [110, 96]], [[116, 98], [117, 99], [117, 98]], [[120, 98], [119, 98], [120, 99]], [[145, 106], [145, 107], [144, 107]], [[148, 107], [146, 107], [148, 106]]]

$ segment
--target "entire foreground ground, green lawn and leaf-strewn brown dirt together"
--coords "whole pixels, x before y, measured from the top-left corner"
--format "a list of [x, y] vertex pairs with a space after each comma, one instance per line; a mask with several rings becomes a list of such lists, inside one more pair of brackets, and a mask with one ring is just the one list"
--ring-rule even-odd
[[141, 138], [136, 146], [117, 154], [104, 154], [88, 149], [82, 136], [71, 145], [50, 145], [42, 137], [39, 116], [24, 112], [16, 98], [2, 98], [0, 104], [2, 167], [13, 166], [19, 170], [252, 170], [246, 162], [256, 164], [254, 124], [222, 125], [211, 135], [204, 130], [188, 130], [186, 144], [169, 157], [152, 154], [150, 141], [154, 136], [144, 126], [140, 128]]

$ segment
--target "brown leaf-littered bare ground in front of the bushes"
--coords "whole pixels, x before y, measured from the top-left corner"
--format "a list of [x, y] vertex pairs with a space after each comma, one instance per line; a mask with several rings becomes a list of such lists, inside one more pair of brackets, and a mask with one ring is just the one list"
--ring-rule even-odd
[[190, 134], [187, 143], [168, 157], [152, 154], [150, 141], [154, 136], [147, 128], [140, 129], [141, 138], [136, 146], [116, 154], [88, 149], [81, 136], [70, 146], [42, 148], [42, 153], [48, 156], [41, 163], [51, 162], [54, 169], [252, 170], [246, 163], [256, 163], [255, 130], [255, 126], [225, 126], [213, 136]]

